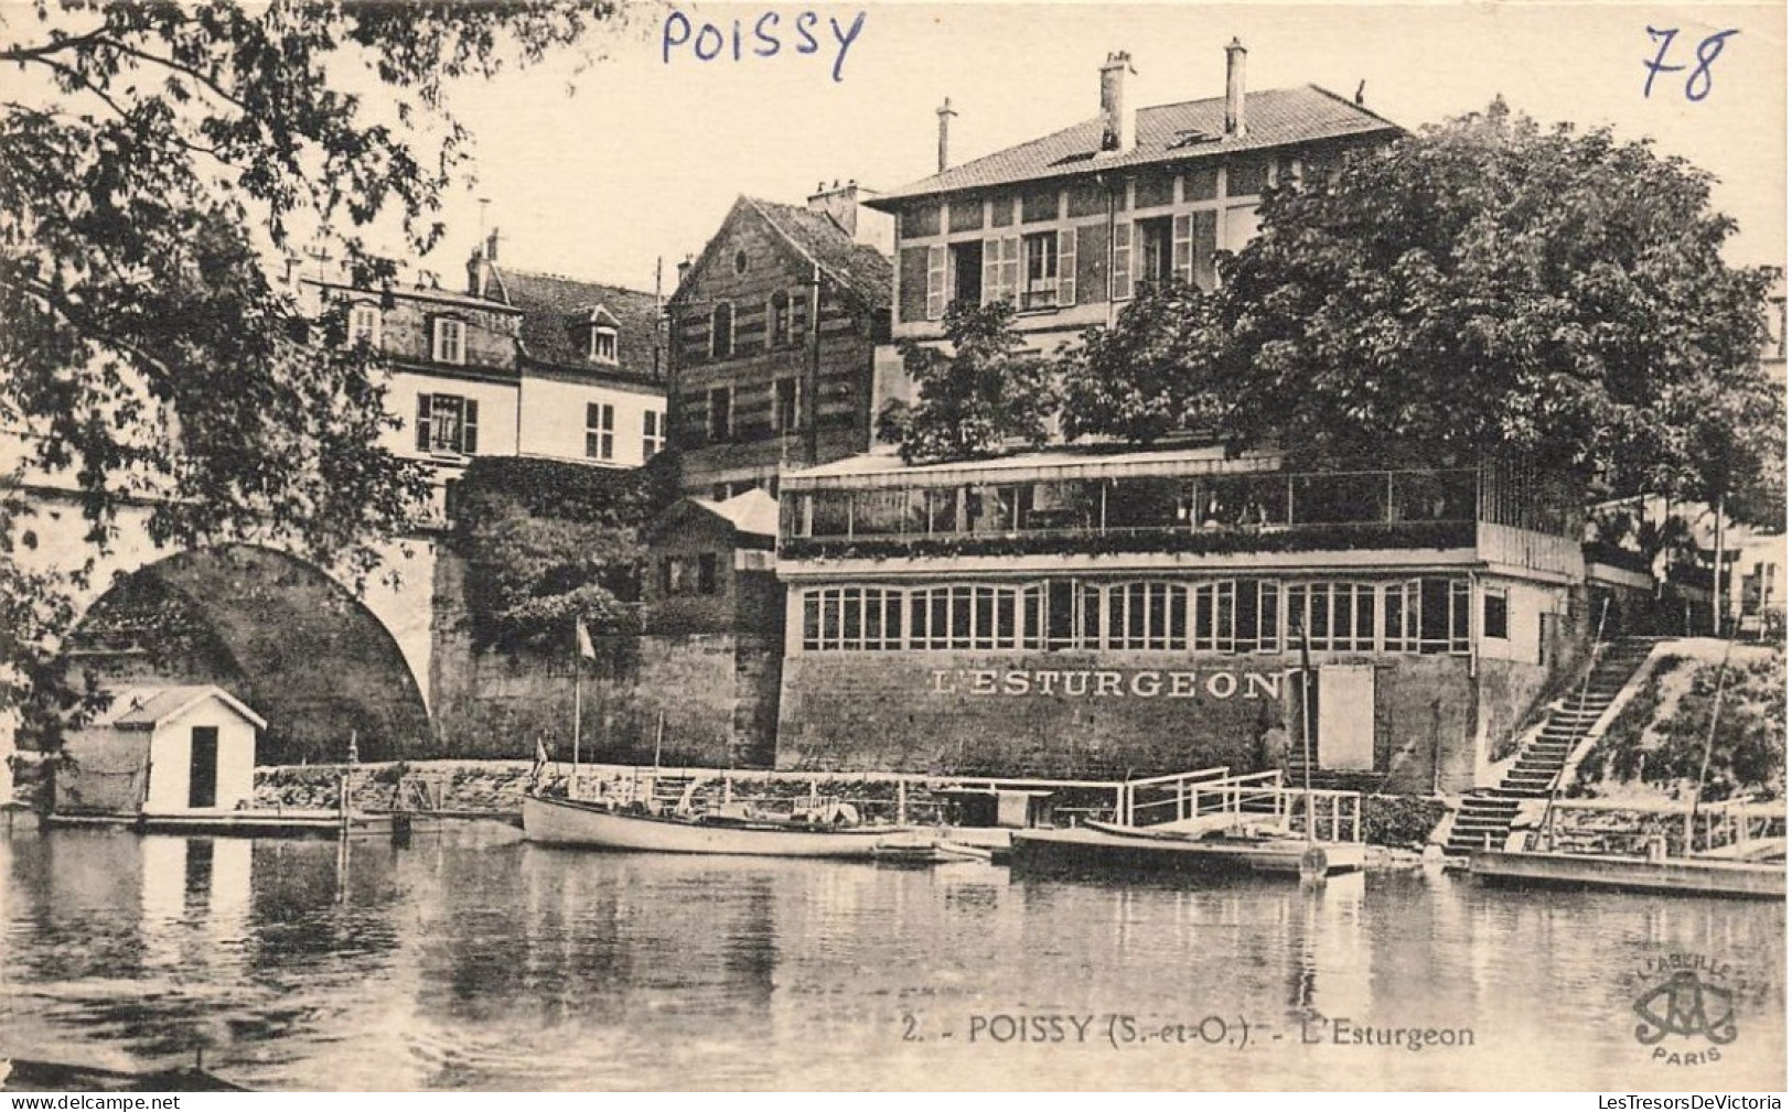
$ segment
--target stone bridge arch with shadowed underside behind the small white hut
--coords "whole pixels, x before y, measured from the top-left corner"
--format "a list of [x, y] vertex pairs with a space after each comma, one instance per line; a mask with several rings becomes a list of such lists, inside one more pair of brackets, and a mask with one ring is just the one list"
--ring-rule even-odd
[[[435, 546], [392, 544], [357, 596], [326, 569], [276, 548], [159, 550], [127, 510], [120, 541], [77, 594], [65, 652], [104, 682], [217, 682], [269, 720], [262, 763], [426, 754]], [[77, 568], [84, 523], [54, 492], [23, 528], [30, 562]], [[7, 731], [9, 732], [9, 731]]]

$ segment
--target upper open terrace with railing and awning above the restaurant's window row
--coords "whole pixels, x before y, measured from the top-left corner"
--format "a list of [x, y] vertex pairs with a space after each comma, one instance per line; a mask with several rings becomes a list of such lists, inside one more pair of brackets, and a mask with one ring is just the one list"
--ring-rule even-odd
[[[864, 458], [864, 457], [862, 457]], [[1279, 471], [1272, 457], [1210, 449], [1039, 453], [901, 467], [842, 460], [787, 476], [780, 555], [1256, 553], [1518, 550], [1579, 521], [1538, 476], [1496, 467]]]

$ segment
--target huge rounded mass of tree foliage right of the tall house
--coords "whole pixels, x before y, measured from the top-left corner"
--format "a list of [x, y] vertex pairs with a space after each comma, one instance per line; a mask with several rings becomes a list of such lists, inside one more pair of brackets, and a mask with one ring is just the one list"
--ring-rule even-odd
[[1724, 263], [1710, 186], [1500, 102], [1360, 152], [1269, 190], [1211, 301], [1131, 313], [1090, 356], [1118, 381], [1084, 389], [1079, 432], [1201, 421], [1308, 458], [1523, 457], [1590, 500], [1742, 494], [1783, 451], [1772, 272]]

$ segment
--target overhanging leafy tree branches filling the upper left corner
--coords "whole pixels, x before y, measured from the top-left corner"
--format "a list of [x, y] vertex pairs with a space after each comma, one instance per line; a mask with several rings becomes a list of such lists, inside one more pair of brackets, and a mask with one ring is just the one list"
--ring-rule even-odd
[[[308, 328], [271, 263], [323, 252], [357, 283], [389, 281], [380, 247], [434, 245], [466, 167], [450, 82], [586, 41], [613, 11], [36, 0], [0, 14], [0, 430], [18, 471], [75, 489], [88, 557], [127, 498], [152, 494], [158, 543], [376, 566], [425, 476], [376, 444], [373, 355], [340, 342], [339, 317]], [[70, 584], [20, 571], [18, 510], [0, 514], [0, 611], [32, 620], [0, 643], [0, 713], [30, 720], [30, 693], [66, 702], [50, 689]]]

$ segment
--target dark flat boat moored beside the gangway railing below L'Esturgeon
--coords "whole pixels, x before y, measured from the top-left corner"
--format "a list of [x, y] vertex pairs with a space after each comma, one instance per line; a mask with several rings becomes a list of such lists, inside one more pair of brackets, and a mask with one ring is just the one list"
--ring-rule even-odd
[[1272, 874], [1297, 877], [1301, 860], [1314, 849], [1324, 854], [1324, 874], [1358, 872], [1364, 847], [1353, 842], [1308, 845], [1297, 838], [1213, 840], [1177, 838], [1118, 827], [1068, 831], [1018, 831], [1016, 868], [1027, 870], [1127, 870], [1174, 876]]

